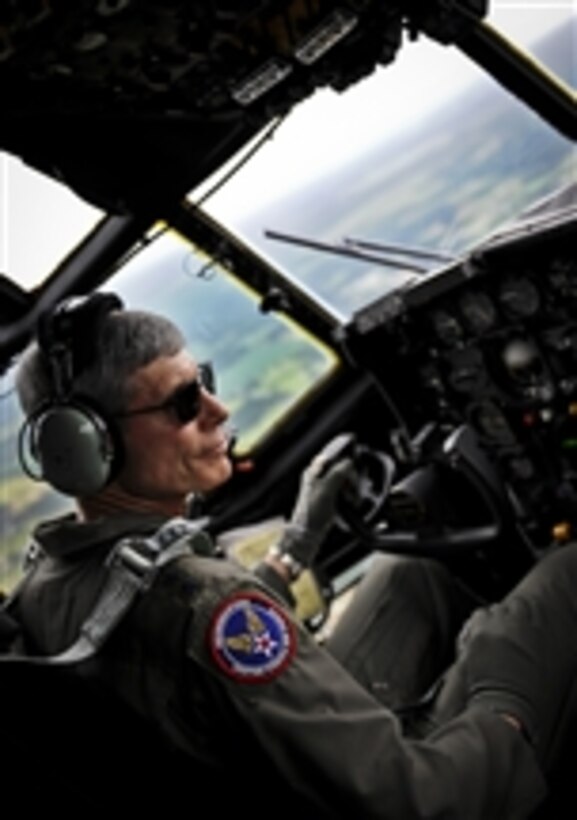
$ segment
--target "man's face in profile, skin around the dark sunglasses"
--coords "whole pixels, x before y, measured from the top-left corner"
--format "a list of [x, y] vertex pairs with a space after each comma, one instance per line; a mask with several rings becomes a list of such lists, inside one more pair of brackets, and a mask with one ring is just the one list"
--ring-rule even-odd
[[[155, 359], [132, 376], [127, 410], [162, 405], [197, 376], [197, 365], [184, 350]], [[125, 463], [118, 483], [132, 495], [159, 501], [215, 489], [232, 472], [227, 418], [224, 405], [203, 389], [192, 421], [182, 423], [170, 407], [123, 419]]]

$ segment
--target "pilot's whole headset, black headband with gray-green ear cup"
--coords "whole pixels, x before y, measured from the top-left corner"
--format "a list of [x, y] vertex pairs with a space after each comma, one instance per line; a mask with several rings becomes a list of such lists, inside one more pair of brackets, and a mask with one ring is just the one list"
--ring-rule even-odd
[[65, 495], [98, 492], [122, 462], [117, 426], [74, 390], [75, 379], [94, 361], [103, 319], [122, 308], [115, 294], [95, 293], [70, 297], [38, 320], [37, 342], [51, 394], [20, 430], [20, 463], [31, 478], [47, 481]]

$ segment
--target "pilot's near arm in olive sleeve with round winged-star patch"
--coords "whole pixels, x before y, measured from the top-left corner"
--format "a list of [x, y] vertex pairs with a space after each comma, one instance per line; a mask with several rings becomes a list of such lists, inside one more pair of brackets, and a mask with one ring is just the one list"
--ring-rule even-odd
[[492, 710], [475, 707], [426, 741], [407, 740], [266, 593], [224, 574], [215, 583], [199, 584], [193, 602], [195, 674], [200, 667], [214, 704], [235, 715], [231, 736], [256, 743], [311, 810], [492, 820], [524, 816], [544, 796], [530, 745]]

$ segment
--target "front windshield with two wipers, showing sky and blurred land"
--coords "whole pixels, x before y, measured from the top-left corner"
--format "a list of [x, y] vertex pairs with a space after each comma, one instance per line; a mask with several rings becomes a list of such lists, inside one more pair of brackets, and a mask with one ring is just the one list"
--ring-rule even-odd
[[[492, 26], [575, 87], [572, 3], [493, 9]], [[344, 94], [317, 92], [190, 199], [346, 318], [576, 177], [569, 139], [461, 51], [420, 38]], [[338, 252], [312, 247], [325, 244]]]

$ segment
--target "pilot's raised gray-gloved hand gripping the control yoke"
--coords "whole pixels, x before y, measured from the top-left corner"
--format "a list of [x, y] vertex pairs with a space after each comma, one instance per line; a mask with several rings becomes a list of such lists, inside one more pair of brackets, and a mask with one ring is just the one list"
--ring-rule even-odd
[[292, 516], [274, 550], [290, 556], [295, 566], [311, 564], [334, 522], [339, 495], [354, 484], [352, 443], [348, 433], [332, 439], [302, 475]]

